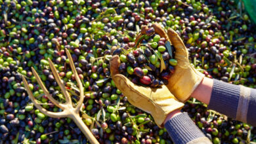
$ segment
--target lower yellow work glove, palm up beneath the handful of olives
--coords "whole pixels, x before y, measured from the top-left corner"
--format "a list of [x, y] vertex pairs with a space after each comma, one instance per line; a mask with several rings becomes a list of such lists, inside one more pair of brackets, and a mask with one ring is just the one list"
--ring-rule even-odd
[[161, 88], [149, 88], [133, 84], [127, 77], [119, 74], [119, 65], [119, 56], [113, 56], [110, 60], [110, 72], [116, 87], [132, 105], [150, 113], [160, 128], [171, 111], [183, 107], [184, 104], [179, 102], [165, 85]]

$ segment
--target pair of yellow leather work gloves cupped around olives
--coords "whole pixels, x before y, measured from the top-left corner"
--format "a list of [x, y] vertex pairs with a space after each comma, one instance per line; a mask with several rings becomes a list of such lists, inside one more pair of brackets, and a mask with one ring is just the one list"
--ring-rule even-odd
[[128, 101], [135, 107], [150, 113], [156, 124], [162, 128], [167, 115], [184, 106], [184, 102], [190, 98], [192, 92], [203, 80], [204, 75], [190, 64], [188, 50], [181, 37], [173, 29], [168, 29], [166, 33], [160, 25], [153, 24], [152, 26], [156, 33], [175, 46], [175, 59], [178, 63], [169, 83], [166, 86], [161, 86], [161, 88], [133, 84], [127, 77], [119, 74], [119, 56], [113, 56], [110, 60], [110, 71], [116, 87], [123, 92]]

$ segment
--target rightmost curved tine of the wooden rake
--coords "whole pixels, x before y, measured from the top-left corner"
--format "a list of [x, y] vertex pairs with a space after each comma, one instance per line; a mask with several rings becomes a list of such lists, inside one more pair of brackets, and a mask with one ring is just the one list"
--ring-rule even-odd
[[81, 80], [79, 79], [79, 76], [77, 74], [77, 71], [75, 69], [75, 65], [74, 65], [74, 62], [72, 60], [72, 57], [70, 55], [70, 52], [68, 52], [68, 49], [66, 48], [66, 54], [68, 56], [68, 59], [70, 60], [70, 67], [75, 75], [75, 80], [77, 81], [77, 84], [79, 86], [79, 90], [80, 90], [80, 98], [79, 98], [79, 101], [77, 102], [77, 106], [76, 106], [76, 109], [75, 111], [78, 113], [80, 111], [80, 107], [81, 105], [83, 104], [83, 99], [84, 99], [84, 96], [83, 96], [83, 85], [82, 85], [82, 82]]

